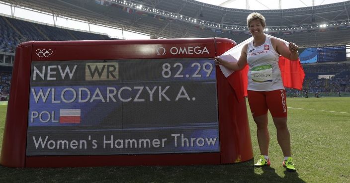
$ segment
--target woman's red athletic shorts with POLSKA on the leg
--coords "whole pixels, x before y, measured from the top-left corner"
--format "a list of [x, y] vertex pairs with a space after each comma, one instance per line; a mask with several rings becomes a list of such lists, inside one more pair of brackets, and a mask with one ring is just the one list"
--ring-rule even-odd
[[272, 117], [287, 117], [287, 101], [285, 90], [248, 91], [248, 102], [253, 116], [267, 114]]

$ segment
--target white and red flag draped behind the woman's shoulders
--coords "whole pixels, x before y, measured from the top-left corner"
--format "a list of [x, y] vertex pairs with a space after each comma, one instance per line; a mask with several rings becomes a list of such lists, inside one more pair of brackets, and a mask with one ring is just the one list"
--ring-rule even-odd
[[[273, 37], [268, 34], [265, 34], [265, 36], [283, 41], [287, 47], [289, 45], [289, 42], [283, 39]], [[253, 40], [253, 37], [243, 41], [242, 43], [231, 48], [230, 50], [220, 55], [219, 57], [229, 62], [238, 62], [238, 59], [241, 56], [241, 51], [243, 46], [251, 42], [252, 40]], [[268, 48], [265, 47], [265, 49], [268, 49]], [[280, 55], [278, 60], [278, 65], [281, 71], [284, 87], [301, 90], [303, 86], [304, 78], [305, 78], [305, 73], [304, 73], [303, 67], [301, 66], [300, 59], [298, 59], [297, 61], [291, 61]], [[247, 65], [240, 72], [236, 72], [236, 73], [234, 73], [234, 71], [229, 70], [221, 65], [220, 65], [220, 69], [224, 74], [224, 76], [228, 79], [228, 82], [230, 83], [231, 87], [235, 90], [237, 97], [243, 98], [244, 96], [247, 96], [247, 87], [248, 87], [247, 75], [248, 75], [249, 66]], [[243, 83], [243, 86], [237, 85], [237, 83], [241, 83], [241, 82]]]

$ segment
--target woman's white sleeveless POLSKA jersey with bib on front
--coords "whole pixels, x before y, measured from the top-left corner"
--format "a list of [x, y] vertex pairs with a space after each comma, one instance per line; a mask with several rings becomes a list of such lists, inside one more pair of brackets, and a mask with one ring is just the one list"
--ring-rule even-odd
[[260, 46], [253, 46], [253, 40], [248, 44], [248, 90], [284, 89], [278, 59], [279, 54], [272, 47], [270, 37], [265, 36], [265, 42]]

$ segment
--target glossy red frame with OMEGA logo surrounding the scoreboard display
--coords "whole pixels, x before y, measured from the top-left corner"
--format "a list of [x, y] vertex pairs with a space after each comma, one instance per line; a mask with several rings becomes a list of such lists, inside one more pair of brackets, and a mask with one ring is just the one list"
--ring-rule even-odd
[[[235, 45], [234, 41], [226, 38], [32, 41], [20, 44], [16, 49], [13, 66], [0, 164], [6, 167], [199, 165], [227, 164], [252, 159], [246, 102], [238, 100], [219, 67], [216, 68], [220, 139], [218, 153], [26, 156], [29, 92], [25, 91], [29, 91], [31, 61], [210, 58], [221, 55]], [[173, 47], [185, 47], [187, 54], [172, 54], [170, 49]], [[193, 51], [195, 47], [196, 51]], [[209, 54], [200, 53], [199, 50], [204, 47]], [[35, 53], [38, 49], [52, 49], [54, 52], [50, 57], [39, 57]], [[175, 52], [176, 49], [173, 49], [173, 53]], [[234, 74], [235, 77], [241, 76], [240, 72]]]

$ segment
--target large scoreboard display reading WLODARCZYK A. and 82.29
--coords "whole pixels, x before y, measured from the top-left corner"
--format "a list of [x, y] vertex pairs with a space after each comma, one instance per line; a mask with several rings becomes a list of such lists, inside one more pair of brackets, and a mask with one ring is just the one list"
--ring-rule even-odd
[[26, 154], [219, 152], [215, 76], [206, 58], [33, 61]]

